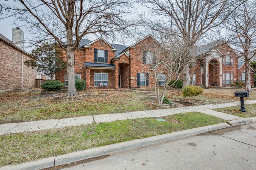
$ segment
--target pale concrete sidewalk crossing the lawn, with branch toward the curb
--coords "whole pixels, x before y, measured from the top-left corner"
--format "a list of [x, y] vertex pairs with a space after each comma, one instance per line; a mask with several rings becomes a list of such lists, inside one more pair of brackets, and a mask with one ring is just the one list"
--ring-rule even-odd
[[[256, 100], [247, 100], [245, 104], [255, 104]], [[72, 117], [65, 119], [50, 119], [42, 121], [30, 121], [21, 123], [7, 123], [0, 125], [0, 135], [7, 133], [18, 133], [26, 131], [38, 131], [43, 129], [55, 129], [67, 126], [78, 126], [78, 125], [88, 125], [91, 123], [101, 123], [101, 122], [111, 122], [116, 120], [126, 120], [126, 119], [137, 119], [144, 117], [162, 117], [178, 113], [187, 113], [191, 111], [198, 111], [208, 115], [213, 115], [220, 117], [225, 120], [235, 120], [242, 117], [214, 111], [212, 109], [238, 106], [240, 102], [232, 102], [225, 104], [208, 104], [201, 106], [188, 106], [188, 107], [176, 107], [170, 109], [159, 109], [159, 110], [147, 110], [147, 111], [134, 111], [128, 113], [112, 113], [104, 115], [90, 115], [82, 117]]]

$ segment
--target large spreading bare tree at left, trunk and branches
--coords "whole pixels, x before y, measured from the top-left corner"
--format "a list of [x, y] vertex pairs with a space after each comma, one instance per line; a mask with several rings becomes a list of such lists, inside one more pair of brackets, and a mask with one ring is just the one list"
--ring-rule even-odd
[[[2, 1], [1, 1], [2, 2]], [[68, 94], [77, 96], [74, 80], [74, 51], [89, 34], [115, 37], [127, 33], [136, 19], [125, 19], [131, 13], [133, 0], [18, 0], [14, 5], [2, 2], [5, 17], [14, 16], [34, 30], [35, 43], [55, 39], [66, 52]], [[67, 41], [65, 43], [65, 41]]]

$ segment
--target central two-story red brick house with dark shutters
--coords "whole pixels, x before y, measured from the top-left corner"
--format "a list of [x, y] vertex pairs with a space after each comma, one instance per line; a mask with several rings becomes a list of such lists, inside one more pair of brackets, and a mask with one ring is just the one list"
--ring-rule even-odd
[[[86, 80], [86, 89], [106, 88], [145, 88], [150, 87], [148, 68], [152, 66], [152, 53], [144, 44], [156, 41], [151, 35], [129, 47], [121, 44], [110, 44], [104, 39], [90, 41], [82, 39], [75, 51], [75, 79]], [[65, 52], [63, 58], [66, 60]], [[164, 79], [164, 76], [162, 76]], [[66, 70], [56, 74], [68, 86]]]

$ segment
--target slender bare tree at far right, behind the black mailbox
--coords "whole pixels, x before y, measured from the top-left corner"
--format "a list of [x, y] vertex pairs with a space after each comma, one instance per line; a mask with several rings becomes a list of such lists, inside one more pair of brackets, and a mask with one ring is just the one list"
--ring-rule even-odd
[[[242, 2], [243, 0], [240, 0]], [[256, 2], [247, 0], [224, 22], [230, 45], [245, 62], [244, 91], [252, 92], [250, 60], [256, 56]]]

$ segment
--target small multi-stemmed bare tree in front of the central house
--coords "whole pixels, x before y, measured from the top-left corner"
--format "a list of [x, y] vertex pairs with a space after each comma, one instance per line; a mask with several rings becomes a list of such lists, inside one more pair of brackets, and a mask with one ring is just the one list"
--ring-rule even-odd
[[[174, 86], [182, 74], [184, 48], [181, 41], [169, 35], [156, 33], [154, 37], [142, 43], [140, 50], [145, 51], [141, 61], [146, 65], [146, 78], [154, 87], [156, 101], [162, 104], [166, 89]], [[175, 80], [173, 84], [171, 80]]]

